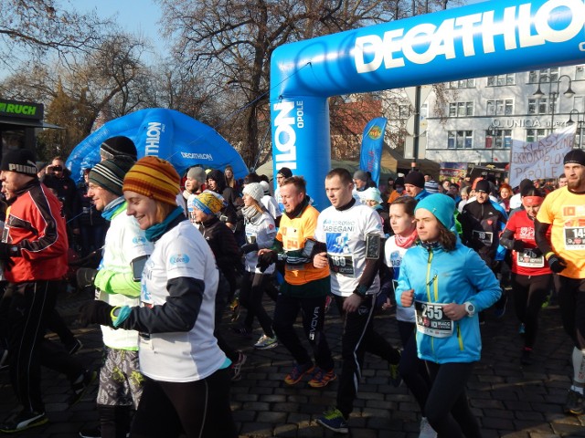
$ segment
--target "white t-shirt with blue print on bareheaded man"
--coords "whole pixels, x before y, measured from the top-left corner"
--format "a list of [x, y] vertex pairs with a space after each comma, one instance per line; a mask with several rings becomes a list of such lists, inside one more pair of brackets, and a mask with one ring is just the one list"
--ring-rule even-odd
[[[330, 206], [319, 214], [314, 236], [327, 245], [331, 292], [335, 295], [349, 297], [356, 290], [366, 267], [366, 236], [370, 234], [384, 238], [379, 214], [367, 205], [355, 203], [343, 211]], [[367, 294], [378, 294], [379, 288], [377, 274]]]

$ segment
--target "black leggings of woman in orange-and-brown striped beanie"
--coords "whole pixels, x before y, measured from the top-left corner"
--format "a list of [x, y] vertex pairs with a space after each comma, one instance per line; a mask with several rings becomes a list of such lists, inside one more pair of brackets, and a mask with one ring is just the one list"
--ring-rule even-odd
[[201, 381], [145, 378], [130, 436], [178, 437], [181, 433], [187, 438], [238, 436], [229, 408], [227, 369], [217, 370]]

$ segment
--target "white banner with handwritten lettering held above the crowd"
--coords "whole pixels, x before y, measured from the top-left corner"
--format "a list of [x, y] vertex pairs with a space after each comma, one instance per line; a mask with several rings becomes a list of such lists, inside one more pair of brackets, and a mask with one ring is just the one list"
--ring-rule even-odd
[[542, 140], [527, 143], [512, 141], [510, 185], [516, 187], [524, 179], [556, 179], [563, 172], [563, 158], [573, 149], [577, 123], [556, 130]]

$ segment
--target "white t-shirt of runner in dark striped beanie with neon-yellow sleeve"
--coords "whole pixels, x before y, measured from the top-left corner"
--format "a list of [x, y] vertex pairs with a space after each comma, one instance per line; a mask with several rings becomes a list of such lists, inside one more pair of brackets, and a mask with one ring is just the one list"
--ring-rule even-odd
[[[101, 255], [100, 269], [119, 274], [132, 274], [131, 263], [138, 257], [150, 255], [153, 244], [146, 240], [144, 231], [140, 229], [134, 216], [125, 210], [115, 214], [106, 233]], [[98, 297], [111, 306], [134, 307], [140, 304], [139, 297], [127, 297], [121, 294], [109, 294], [101, 291]], [[103, 343], [113, 349], [138, 348], [138, 332], [135, 330], [114, 330], [101, 326]]]

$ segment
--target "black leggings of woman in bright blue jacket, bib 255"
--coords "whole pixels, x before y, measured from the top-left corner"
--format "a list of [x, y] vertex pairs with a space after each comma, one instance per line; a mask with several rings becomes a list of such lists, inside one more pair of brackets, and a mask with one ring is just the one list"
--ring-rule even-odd
[[479, 422], [465, 393], [473, 362], [439, 364], [427, 360], [426, 364], [432, 386], [425, 413], [438, 438], [481, 437]]

